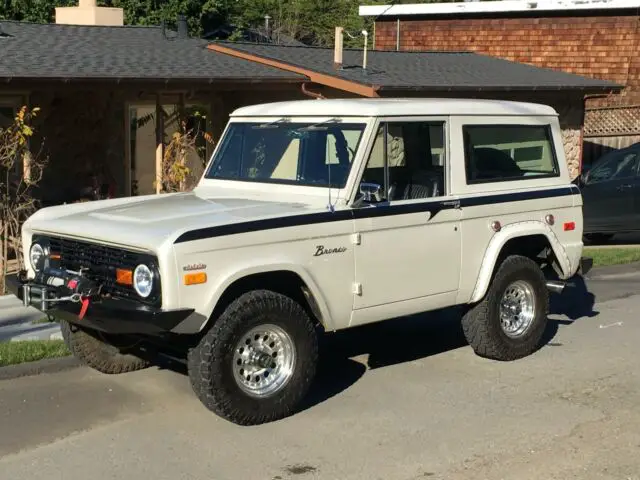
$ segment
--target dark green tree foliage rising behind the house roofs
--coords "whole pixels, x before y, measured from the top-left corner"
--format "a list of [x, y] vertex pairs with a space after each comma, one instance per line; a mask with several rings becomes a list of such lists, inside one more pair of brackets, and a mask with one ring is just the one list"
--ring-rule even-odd
[[[361, 48], [360, 32], [371, 34], [373, 19], [360, 17], [361, 4], [415, 3], [416, 0], [98, 0], [98, 5], [124, 10], [129, 25], [160, 25], [175, 28], [178, 15], [187, 17], [191, 35], [200, 37], [216, 27], [234, 25], [262, 28], [265, 15], [271, 17], [273, 37], [288, 35], [309, 45], [330, 46], [334, 29], [342, 26], [352, 36], [345, 46]], [[433, 0], [431, 0], [433, 1]], [[439, 0], [453, 1], [453, 0]], [[78, 0], [0, 0], [0, 20], [38, 23], [54, 21], [55, 7], [77, 5]], [[238, 39], [238, 34], [231, 39]], [[371, 41], [372, 35], [370, 35]]]

